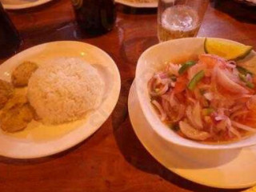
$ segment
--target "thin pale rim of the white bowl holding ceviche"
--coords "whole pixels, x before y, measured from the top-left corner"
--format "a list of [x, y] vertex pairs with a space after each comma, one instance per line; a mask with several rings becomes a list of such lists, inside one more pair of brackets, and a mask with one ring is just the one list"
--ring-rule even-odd
[[[135, 83], [136, 85], [139, 85], [139, 72], [141, 70], [141, 66], [142, 66], [142, 63], [143, 63], [143, 59], [145, 58], [146, 54], [150, 53], [151, 50], [154, 50], [154, 49], [158, 49], [158, 47], [160, 46], [165, 46], [165, 45], [168, 45], [168, 44], [172, 44], [174, 42], [178, 42], [178, 41], [183, 41], [186, 43], [186, 41], [189, 41], [191, 39], [198, 39], [198, 41], [202, 41], [202, 39], [206, 39], [206, 37], [199, 37], [199, 38], [178, 38], [178, 39], [173, 39], [173, 40], [169, 40], [169, 41], [166, 41], [166, 42], [160, 42], [154, 46], [150, 46], [148, 49], [146, 49], [140, 56], [140, 58], [138, 58], [138, 62], [137, 62], [137, 66], [136, 66], [136, 72], [135, 72]], [[241, 42], [235, 42], [233, 40], [230, 40], [230, 39], [226, 39], [226, 38], [214, 38], [216, 40], [224, 40], [224, 41], [228, 41], [228, 42], [234, 42], [234, 43], [238, 43], [240, 45], [244, 45], [242, 44]], [[255, 54], [255, 51], [252, 50], [252, 53], [254, 55]], [[191, 148], [191, 149], [201, 149], [201, 150], [228, 150], [228, 149], [241, 149], [243, 147], [249, 147], [249, 146], [254, 146], [256, 145], [256, 140], [255, 142], [246, 142], [246, 143], [241, 143], [240, 145], [236, 143], [238, 142], [241, 142], [241, 141], [245, 141], [247, 138], [244, 138], [238, 142], [227, 142], [227, 143], [223, 143], [223, 144], [211, 144], [211, 143], [202, 143], [202, 142], [197, 142], [197, 141], [193, 141], [193, 140], [190, 140], [190, 139], [187, 139], [187, 138], [182, 138], [181, 136], [179, 136], [178, 134], [176, 134], [179, 138], [178, 140], [183, 140], [184, 139], [186, 140], [186, 142], [177, 142], [176, 139], [172, 139], [170, 138], [168, 135], [166, 134], [163, 134], [161, 133], [159, 130], [158, 130], [158, 126], [156, 125], [156, 121], [154, 121], [154, 119], [150, 118], [150, 114], [153, 114], [153, 112], [151, 110], [147, 110], [146, 106], [143, 105], [143, 100], [145, 100], [145, 98], [143, 97], [143, 94], [142, 94], [142, 90], [140, 90], [138, 88], [139, 86], [136, 86], [136, 92], [138, 94], [138, 102], [139, 102], [139, 105], [141, 106], [142, 108], [142, 112], [143, 114], [145, 115], [146, 117], [146, 120], [150, 123], [152, 129], [154, 130], [154, 132], [156, 134], [158, 134], [161, 138], [163, 138], [164, 140], [166, 140], [167, 142], [171, 142], [173, 144], [176, 144], [178, 146], [185, 146], [185, 147], [188, 147], [188, 148]], [[147, 100], [147, 99], [146, 99]], [[149, 106], [150, 105], [150, 102], [146, 102], [147, 105]], [[161, 122], [160, 119], [158, 119], [158, 121]], [[164, 123], [162, 123], [162, 125], [164, 125]], [[248, 137], [250, 138], [250, 137]], [[189, 145], [190, 144], [190, 145]]]

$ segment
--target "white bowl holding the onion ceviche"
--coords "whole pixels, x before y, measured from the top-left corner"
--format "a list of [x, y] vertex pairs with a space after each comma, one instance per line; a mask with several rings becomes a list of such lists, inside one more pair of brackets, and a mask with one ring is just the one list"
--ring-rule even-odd
[[[157, 112], [150, 104], [147, 82], [153, 76], [154, 72], [162, 70], [166, 62], [184, 62], [189, 59], [196, 58], [198, 54], [205, 53], [203, 49], [204, 40], [205, 38], [180, 38], [168, 42], [162, 42], [150, 47], [141, 55], [138, 59], [135, 82], [138, 100], [142, 107], [143, 114], [145, 114], [147, 121], [157, 134], [167, 142], [171, 142], [179, 146], [202, 150], [226, 150], [256, 145], [256, 134], [238, 142], [223, 144], [204, 144], [182, 138], [161, 122], [160, 118], [158, 118]], [[230, 41], [226, 39], [222, 40]], [[252, 51], [241, 62], [243, 62], [245, 66], [250, 67], [250, 70], [256, 72], [254, 69], [255, 67], [252, 68], [253, 63], [256, 63], [256, 54], [254, 51]]]

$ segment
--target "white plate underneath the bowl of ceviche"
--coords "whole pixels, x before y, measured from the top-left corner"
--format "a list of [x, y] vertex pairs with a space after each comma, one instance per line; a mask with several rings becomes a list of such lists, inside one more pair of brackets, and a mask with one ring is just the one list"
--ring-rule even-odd
[[158, 162], [175, 174], [192, 182], [218, 188], [256, 185], [256, 146], [210, 152], [170, 146], [146, 121], [138, 102], [135, 84], [130, 88], [128, 109], [130, 122], [142, 145]]

